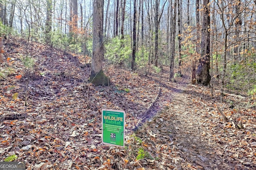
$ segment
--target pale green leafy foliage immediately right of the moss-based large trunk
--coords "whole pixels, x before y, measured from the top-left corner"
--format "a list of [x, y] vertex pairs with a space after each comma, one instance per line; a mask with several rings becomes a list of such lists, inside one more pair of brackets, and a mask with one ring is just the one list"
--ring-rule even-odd
[[105, 49], [105, 58], [108, 63], [118, 65], [123, 61], [125, 66], [130, 64], [129, 58], [132, 51], [130, 49], [129, 37], [125, 37], [123, 40], [115, 37], [106, 43]]

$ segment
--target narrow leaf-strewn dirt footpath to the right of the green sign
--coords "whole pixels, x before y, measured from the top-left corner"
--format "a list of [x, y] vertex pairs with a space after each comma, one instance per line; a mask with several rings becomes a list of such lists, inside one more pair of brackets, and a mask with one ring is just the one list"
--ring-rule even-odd
[[[215, 154], [214, 144], [209, 141], [208, 135], [211, 132], [203, 124], [207, 121], [203, 115], [208, 107], [193, 104], [192, 95], [184, 93], [188, 87], [179, 86], [181, 91], [172, 94], [173, 99], [170, 105], [170, 112], [173, 113], [172, 131], [174, 132], [173, 141], [176, 141], [176, 147], [180, 150], [180, 156], [191, 165], [212, 169], [226, 169], [220, 155]], [[200, 111], [198, 111], [200, 109]], [[204, 113], [203, 113], [204, 112]], [[222, 162], [217, 165], [216, 162]]]

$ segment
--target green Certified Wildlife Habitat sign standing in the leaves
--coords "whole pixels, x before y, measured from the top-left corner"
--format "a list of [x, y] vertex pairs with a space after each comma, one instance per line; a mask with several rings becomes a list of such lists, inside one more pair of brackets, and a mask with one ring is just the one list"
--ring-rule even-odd
[[102, 109], [102, 143], [124, 147], [125, 112]]

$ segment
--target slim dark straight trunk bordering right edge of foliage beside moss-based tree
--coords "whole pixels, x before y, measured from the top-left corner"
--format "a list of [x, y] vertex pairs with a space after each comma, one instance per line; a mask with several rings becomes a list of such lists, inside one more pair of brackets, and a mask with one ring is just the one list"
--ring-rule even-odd
[[133, 45], [132, 45], [132, 65], [131, 69], [135, 70], [135, 53], [136, 53], [136, 0], [134, 0], [133, 4], [133, 29], [132, 29], [132, 40], [133, 40]]

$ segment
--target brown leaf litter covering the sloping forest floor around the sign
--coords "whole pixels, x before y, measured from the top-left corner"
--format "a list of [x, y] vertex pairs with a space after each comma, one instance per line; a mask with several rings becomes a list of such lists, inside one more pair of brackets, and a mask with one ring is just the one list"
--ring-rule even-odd
[[[90, 58], [32, 43], [36, 67], [24, 106], [26, 77], [15, 76], [24, 74], [26, 42], [10, 37], [4, 49], [0, 161], [16, 154], [28, 170], [256, 169], [256, 112], [248, 98], [227, 94], [219, 103], [218, 88], [211, 100], [210, 88], [186, 76], [168, 82], [167, 68], [159, 78], [104, 66], [112, 85], [94, 87]], [[101, 143], [101, 109], [126, 111], [125, 148]]]

